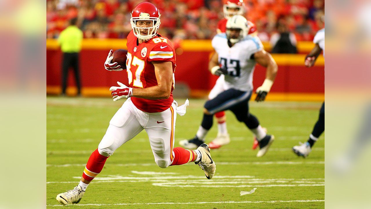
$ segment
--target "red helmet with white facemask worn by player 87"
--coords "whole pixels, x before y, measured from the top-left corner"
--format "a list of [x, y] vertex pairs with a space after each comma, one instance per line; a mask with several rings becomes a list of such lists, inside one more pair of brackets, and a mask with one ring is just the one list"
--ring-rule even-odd
[[[149, 2], [139, 3], [134, 7], [131, 12], [131, 28], [133, 29], [134, 35], [142, 41], [148, 41], [158, 33], [158, 27], [160, 26], [160, 11], [157, 7]], [[139, 20], [150, 20], [152, 21], [151, 27], [138, 27], [137, 21]], [[148, 29], [147, 35], [141, 35], [139, 29]]]

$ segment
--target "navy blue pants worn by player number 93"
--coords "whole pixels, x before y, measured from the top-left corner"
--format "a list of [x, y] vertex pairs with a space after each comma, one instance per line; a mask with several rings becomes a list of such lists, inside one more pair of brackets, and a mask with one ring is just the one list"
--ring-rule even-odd
[[210, 114], [204, 114], [201, 126], [210, 130], [213, 126], [213, 115], [224, 110], [231, 110], [237, 120], [244, 122], [247, 128], [255, 129], [259, 126], [259, 120], [249, 113], [249, 100], [252, 91], [240, 91], [228, 89], [221, 92], [214, 99], [208, 100], [204, 107]]

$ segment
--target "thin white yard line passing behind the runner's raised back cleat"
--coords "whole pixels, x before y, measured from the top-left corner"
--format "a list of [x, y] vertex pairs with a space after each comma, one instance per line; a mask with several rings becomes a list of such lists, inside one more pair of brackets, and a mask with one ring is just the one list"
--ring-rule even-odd
[[[268, 161], [268, 162], [216, 162], [217, 165], [299, 165], [299, 164], [325, 164], [325, 161]], [[46, 167], [85, 167], [86, 164], [46, 164]], [[107, 166], [157, 166], [155, 163], [127, 163], [127, 164], [106, 164]], [[187, 163], [184, 165], [193, 165]]]

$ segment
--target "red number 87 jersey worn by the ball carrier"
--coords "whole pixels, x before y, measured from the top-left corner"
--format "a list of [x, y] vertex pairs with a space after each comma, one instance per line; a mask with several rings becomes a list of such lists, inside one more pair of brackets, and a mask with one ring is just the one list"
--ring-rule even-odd
[[128, 58], [126, 67], [128, 83], [132, 88], [148, 88], [157, 85], [155, 68], [156, 62], [171, 62], [173, 65], [173, 84], [168, 99], [142, 99], [131, 97], [133, 104], [144, 112], [154, 113], [167, 110], [173, 103], [175, 49], [168, 38], [157, 35], [154, 38], [138, 44], [138, 38], [131, 31], [127, 37]]

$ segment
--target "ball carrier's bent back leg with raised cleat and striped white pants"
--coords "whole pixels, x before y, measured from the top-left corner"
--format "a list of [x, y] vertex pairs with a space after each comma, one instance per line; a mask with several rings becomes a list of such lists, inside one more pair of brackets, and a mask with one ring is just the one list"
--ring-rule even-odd
[[206, 144], [201, 144], [196, 150], [173, 148], [176, 121], [174, 103], [163, 112], [146, 114], [148, 121], [145, 124], [145, 131], [150, 139], [155, 162], [159, 167], [166, 168], [170, 165], [194, 162], [204, 170], [207, 179], [214, 176], [215, 163], [211, 159], [210, 150]]

